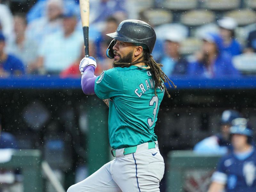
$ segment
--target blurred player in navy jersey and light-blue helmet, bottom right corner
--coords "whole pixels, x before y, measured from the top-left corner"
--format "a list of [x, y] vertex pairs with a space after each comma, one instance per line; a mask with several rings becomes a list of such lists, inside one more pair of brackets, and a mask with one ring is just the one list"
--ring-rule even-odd
[[253, 147], [253, 132], [246, 119], [234, 119], [237, 125], [230, 128], [234, 151], [220, 159], [217, 171], [212, 175], [208, 192], [256, 191], [256, 151]]

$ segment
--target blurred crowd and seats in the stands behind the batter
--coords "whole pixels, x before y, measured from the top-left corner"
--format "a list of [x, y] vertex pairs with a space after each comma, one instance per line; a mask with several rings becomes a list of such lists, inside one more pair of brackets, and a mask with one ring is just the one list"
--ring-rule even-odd
[[[173, 2], [175, 10], [170, 8]], [[143, 20], [155, 29], [152, 55], [171, 78], [254, 75], [256, 20], [241, 21], [255, 16], [254, 9], [241, 0], [230, 8], [232, 14], [228, 9], [208, 11], [207, 2], [194, 0], [191, 7], [181, 4], [179, 8], [175, 0], [91, 0], [89, 53], [98, 62], [96, 75], [112, 68], [112, 60], [106, 57], [111, 39], [105, 34], [125, 19]], [[79, 77], [78, 65], [84, 57], [79, 2], [38, 0], [28, 12], [13, 10], [8, 2], [0, 3], [0, 77]], [[237, 15], [241, 12], [244, 15]]]

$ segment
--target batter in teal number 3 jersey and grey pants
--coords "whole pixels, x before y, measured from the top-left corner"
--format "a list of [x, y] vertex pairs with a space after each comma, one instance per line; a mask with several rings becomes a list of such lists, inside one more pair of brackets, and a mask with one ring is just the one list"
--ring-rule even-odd
[[107, 35], [113, 38], [106, 54], [114, 68], [95, 77], [96, 61], [84, 58], [79, 69], [84, 93], [109, 106], [108, 134], [116, 158], [68, 192], [158, 192], [164, 159], [154, 127], [164, 92], [170, 96], [164, 82], [172, 81], [150, 55], [156, 34], [147, 23], [124, 20]]

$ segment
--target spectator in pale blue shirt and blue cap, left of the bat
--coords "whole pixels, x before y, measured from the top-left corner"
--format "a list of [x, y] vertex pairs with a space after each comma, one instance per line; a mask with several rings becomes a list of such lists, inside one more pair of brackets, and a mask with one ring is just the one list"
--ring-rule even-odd
[[75, 30], [76, 23], [74, 12], [63, 15], [63, 30], [46, 36], [39, 48], [38, 68], [57, 75], [80, 57], [83, 35]]

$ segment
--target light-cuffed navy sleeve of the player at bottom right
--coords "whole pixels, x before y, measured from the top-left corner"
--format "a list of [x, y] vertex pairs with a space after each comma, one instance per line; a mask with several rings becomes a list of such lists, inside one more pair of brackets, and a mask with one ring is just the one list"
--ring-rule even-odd
[[212, 181], [225, 185], [228, 180], [226, 169], [224, 166], [225, 158], [221, 158], [217, 166], [217, 170], [212, 174]]

